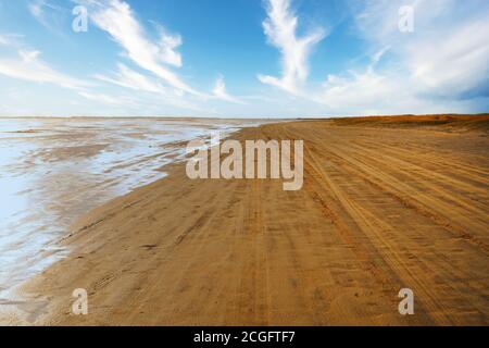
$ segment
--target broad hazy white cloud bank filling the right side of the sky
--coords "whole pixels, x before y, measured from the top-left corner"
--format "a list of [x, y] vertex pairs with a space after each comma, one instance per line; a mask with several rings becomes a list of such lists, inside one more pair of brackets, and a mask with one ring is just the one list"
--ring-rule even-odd
[[[488, 3], [467, 5], [461, 16], [456, 1], [417, 0], [412, 34], [398, 29], [403, 4], [359, 1], [359, 35], [367, 51], [378, 51], [366, 67], [329, 75], [317, 102], [352, 113], [463, 112], [471, 98], [489, 97]], [[377, 66], [385, 55], [390, 63]]]

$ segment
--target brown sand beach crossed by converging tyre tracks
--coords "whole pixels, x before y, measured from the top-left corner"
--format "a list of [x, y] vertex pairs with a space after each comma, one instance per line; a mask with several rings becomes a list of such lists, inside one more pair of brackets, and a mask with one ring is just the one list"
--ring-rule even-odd
[[[489, 117], [356, 120], [233, 136], [303, 139], [300, 191], [272, 179], [190, 181], [175, 164], [96, 209], [63, 241], [71, 257], [26, 287], [45, 303], [29, 320], [488, 325]], [[404, 287], [414, 315], [398, 312]], [[88, 290], [88, 315], [71, 314], [75, 288]]]

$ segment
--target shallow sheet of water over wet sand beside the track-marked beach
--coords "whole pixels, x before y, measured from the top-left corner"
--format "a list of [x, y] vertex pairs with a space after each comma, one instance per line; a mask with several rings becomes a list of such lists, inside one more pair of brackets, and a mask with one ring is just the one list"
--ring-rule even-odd
[[74, 219], [163, 177], [163, 165], [184, 158], [178, 142], [258, 124], [0, 119], [0, 311], [24, 311], [34, 321], [47, 304], [23, 301], [16, 289], [68, 253], [58, 240]]

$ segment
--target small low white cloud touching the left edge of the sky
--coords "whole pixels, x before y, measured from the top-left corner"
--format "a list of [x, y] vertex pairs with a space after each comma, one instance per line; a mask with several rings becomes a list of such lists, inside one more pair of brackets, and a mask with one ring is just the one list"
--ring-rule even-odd
[[39, 59], [40, 52], [18, 50], [16, 59], [0, 59], [0, 74], [13, 78], [54, 84], [64, 88], [80, 89], [89, 83], [60, 73]]

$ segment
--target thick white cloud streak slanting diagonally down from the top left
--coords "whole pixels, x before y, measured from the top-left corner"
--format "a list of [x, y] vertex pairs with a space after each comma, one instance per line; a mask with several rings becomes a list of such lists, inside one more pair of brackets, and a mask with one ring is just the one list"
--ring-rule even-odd
[[201, 95], [165, 66], [165, 64], [181, 65], [181, 58], [175, 51], [181, 44], [178, 36], [163, 35], [160, 44], [154, 44], [146, 37], [129, 4], [120, 0], [110, 0], [106, 4], [97, 2], [97, 7], [89, 13], [93, 23], [109, 33], [137, 65], [155, 74], [176, 89]]

